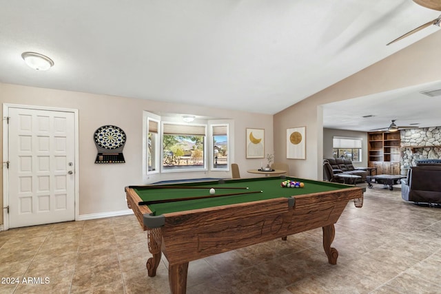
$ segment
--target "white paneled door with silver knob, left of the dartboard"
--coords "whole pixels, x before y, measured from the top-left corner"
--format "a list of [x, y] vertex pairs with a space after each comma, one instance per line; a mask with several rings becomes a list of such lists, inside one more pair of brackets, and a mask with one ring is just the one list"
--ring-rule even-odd
[[73, 112], [8, 108], [9, 227], [75, 219]]

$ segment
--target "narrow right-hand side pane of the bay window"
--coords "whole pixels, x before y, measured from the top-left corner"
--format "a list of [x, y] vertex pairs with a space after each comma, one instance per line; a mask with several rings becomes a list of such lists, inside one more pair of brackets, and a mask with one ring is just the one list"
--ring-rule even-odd
[[229, 170], [228, 125], [211, 125], [212, 134], [212, 170]]

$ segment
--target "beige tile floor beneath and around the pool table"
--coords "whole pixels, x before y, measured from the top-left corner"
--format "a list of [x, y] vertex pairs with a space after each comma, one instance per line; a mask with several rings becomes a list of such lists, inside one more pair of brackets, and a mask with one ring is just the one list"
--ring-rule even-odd
[[[187, 293], [441, 293], [441, 209], [403, 202], [400, 189], [375, 185], [361, 209], [349, 202], [336, 224], [337, 265], [321, 236], [190, 262]], [[1, 231], [0, 293], [169, 293], [167, 261], [148, 277], [147, 256], [134, 216]]]

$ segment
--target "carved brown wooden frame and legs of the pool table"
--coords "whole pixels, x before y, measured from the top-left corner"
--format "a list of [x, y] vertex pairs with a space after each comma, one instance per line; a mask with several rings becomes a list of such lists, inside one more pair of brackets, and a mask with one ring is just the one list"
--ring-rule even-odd
[[[326, 185], [332, 183], [326, 182]], [[276, 238], [286, 240], [287, 235], [320, 227], [328, 262], [336, 264], [338, 251], [331, 247], [334, 224], [349, 200], [353, 200], [356, 207], [362, 207], [363, 198], [360, 187], [349, 187], [291, 198], [165, 213], [152, 224], [149, 220], [152, 211], [147, 205], [139, 205], [142, 200], [136, 191], [130, 187], [125, 187], [125, 191], [128, 207], [147, 231], [148, 247], [153, 255], [147, 260], [148, 275], [156, 275], [162, 251], [169, 262], [168, 277], [174, 294], [186, 291], [189, 261]]]

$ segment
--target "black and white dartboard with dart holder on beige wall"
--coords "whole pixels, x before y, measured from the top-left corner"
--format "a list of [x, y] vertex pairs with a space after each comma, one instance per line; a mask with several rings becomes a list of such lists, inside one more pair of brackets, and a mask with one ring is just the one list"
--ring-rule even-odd
[[125, 132], [114, 125], [103, 125], [96, 129], [94, 141], [98, 154], [95, 163], [123, 163]]

